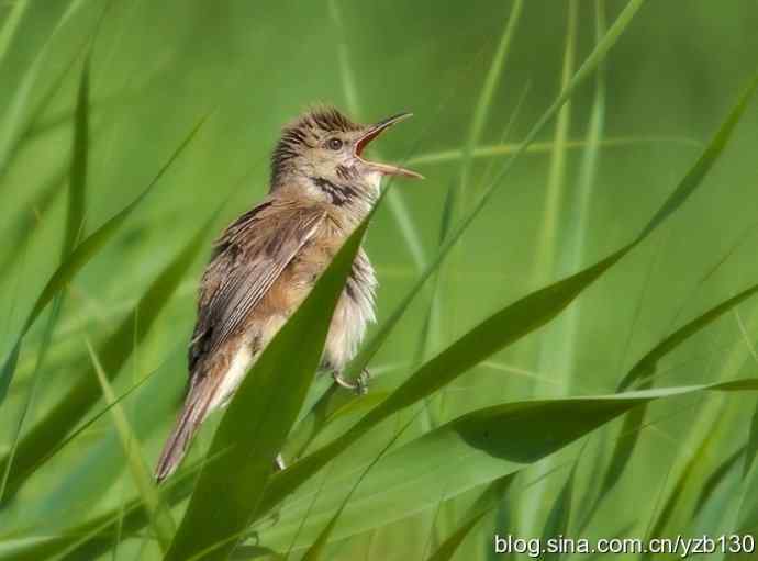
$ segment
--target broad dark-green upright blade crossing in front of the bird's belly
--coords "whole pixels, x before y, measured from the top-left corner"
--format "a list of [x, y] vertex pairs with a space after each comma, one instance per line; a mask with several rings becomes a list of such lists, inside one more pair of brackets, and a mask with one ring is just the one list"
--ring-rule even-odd
[[234, 393], [210, 448], [221, 456], [200, 472], [166, 561], [225, 559], [249, 524], [319, 367], [369, 218], [345, 242]]

